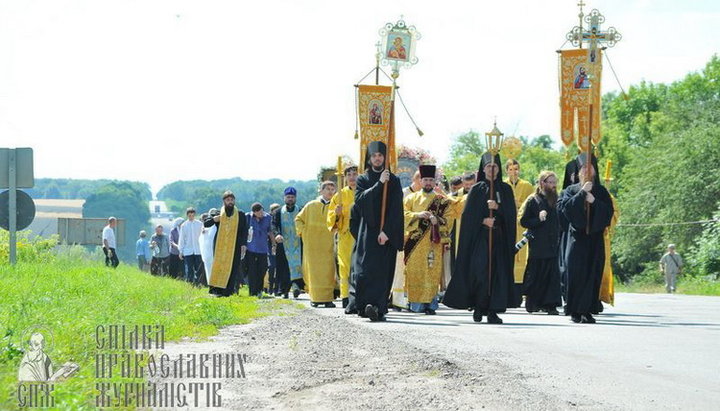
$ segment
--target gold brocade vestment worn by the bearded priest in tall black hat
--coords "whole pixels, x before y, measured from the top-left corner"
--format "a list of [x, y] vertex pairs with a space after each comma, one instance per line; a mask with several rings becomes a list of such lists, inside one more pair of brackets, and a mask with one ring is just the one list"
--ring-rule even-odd
[[[428, 210], [437, 194], [418, 191], [408, 195], [404, 200], [405, 234], [408, 238], [418, 234], [418, 213]], [[441, 216], [437, 216], [440, 224], [440, 243], [430, 240], [430, 229], [425, 230], [405, 264], [405, 290], [407, 299], [413, 303], [429, 303], [437, 295], [443, 275], [443, 253], [448, 244], [449, 230], [453, 219], [459, 217], [465, 201], [450, 198], [445, 201], [450, 205]]]

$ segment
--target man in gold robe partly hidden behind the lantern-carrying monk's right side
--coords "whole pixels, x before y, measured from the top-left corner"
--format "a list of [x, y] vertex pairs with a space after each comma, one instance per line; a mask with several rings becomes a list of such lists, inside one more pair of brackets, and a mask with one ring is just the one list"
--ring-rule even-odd
[[[525, 204], [525, 200], [535, 192], [535, 189], [529, 181], [520, 178], [520, 163], [514, 158], [505, 163], [505, 171], [508, 173], [508, 179], [505, 182], [510, 185], [515, 196], [515, 211], [517, 215], [522, 215], [520, 209]], [[518, 218], [517, 229], [515, 230], [516, 243], [522, 239], [523, 232], [525, 232], [525, 229], [520, 225], [520, 219]], [[508, 302], [508, 308], [517, 308], [522, 304], [522, 286], [525, 277], [525, 266], [527, 265], [527, 254], [528, 247], [521, 248], [515, 254], [515, 284], [513, 285], [512, 301]]]

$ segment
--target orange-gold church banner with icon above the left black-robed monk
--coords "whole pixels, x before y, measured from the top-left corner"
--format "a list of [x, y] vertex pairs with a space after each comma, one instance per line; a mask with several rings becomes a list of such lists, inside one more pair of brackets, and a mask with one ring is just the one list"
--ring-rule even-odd
[[388, 147], [390, 170], [397, 168], [395, 151], [395, 133], [389, 134], [392, 107], [392, 87], [390, 86], [358, 86], [358, 118], [360, 122], [360, 161], [359, 171], [365, 168], [365, 151], [368, 143], [382, 141]]

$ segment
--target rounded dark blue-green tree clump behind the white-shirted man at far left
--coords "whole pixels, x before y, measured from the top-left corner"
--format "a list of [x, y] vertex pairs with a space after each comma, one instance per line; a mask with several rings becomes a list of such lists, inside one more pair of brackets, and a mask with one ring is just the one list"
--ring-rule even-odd
[[150, 210], [147, 200], [137, 186], [126, 182], [112, 182], [100, 187], [83, 204], [83, 217], [125, 219], [125, 245], [118, 246], [118, 256], [125, 261], [135, 259], [135, 239], [140, 230], [147, 229]]

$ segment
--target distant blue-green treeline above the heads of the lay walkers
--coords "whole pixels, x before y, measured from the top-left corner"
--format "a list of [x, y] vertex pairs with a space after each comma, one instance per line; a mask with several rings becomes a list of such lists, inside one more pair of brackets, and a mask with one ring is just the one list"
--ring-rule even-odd
[[159, 200], [166, 202], [170, 210], [184, 215], [187, 207], [195, 207], [204, 213], [212, 207], [222, 205], [222, 193], [231, 190], [236, 197], [238, 207], [249, 211], [254, 202], [259, 202], [269, 210], [272, 203], [283, 203], [285, 188], [293, 186], [298, 191], [298, 205], [304, 205], [318, 196], [319, 183], [316, 181], [243, 180], [231, 178], [223, 180], [176, 181], [164, 186], [157, 194]]

